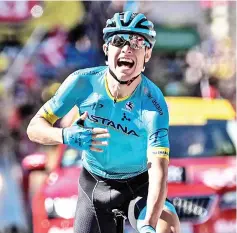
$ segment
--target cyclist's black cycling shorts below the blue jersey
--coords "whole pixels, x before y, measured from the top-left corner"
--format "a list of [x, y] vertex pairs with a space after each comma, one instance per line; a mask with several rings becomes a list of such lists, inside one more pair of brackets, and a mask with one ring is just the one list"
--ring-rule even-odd
[[136, 229], [139, 213], [146, 206], [148, 172], [115, 180], [82, 168], [74, 220], [74, 233], [116, 233], [113, 209], [123, 211]]

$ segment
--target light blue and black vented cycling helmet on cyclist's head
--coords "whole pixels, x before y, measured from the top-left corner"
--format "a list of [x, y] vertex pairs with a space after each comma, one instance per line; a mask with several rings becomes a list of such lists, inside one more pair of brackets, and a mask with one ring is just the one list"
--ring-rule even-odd
[[147, 20], [142, 13], [133, 13], [126, 11], [115, 13], [113, 18], [108, 19], [106, 26], [103, 29], [103, 38], [107, 42], [108, 39], [115, 34], [139, 34], [143, 36], [151, 45], [151, 48], [156, 42], [156, 32], [151, 21]]

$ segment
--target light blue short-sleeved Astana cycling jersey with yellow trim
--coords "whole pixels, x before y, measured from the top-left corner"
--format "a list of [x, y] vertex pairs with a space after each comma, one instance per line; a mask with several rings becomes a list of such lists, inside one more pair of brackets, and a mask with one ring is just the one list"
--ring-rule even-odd
[[87, 111], [86, 127], [107, 128], [110, 133], [104, 152], [83, 152], [83, 166], [110, 179], [125, 179], [147, 170], [147, 156], [168, 159], [169, 114], [160, 89], [142, 75], [131, 96], [115, 102], [107, 84], [108, 67], [72, 73], [42, 107], [43, 117], [54, 124], [75, 105]]

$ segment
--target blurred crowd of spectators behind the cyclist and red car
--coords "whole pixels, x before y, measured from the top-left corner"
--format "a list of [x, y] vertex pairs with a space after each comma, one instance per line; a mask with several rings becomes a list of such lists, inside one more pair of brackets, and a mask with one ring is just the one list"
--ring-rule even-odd
[[[200, 2], [193, 4], [200, 5]], [[1, 143], [11, 143], [19, 160], [37, 149], [26, 136], [30, 118], [71, 72], [105, 65], [102, 29], [115, 12], [125, 10], [146, 13], [157, 28], [193, 27], [197, 31], [199, 41], [190, 47], [162, 48], [157, 40], [145, 74], [166, 96], [227, 98], [235, 106], [235, 38], [213, 37], [209, 8], [199, 6], [200, 11], [197, 11], [196, 5], [185, 5], [185, 2], [178, 2], [179, 7], [175, 3], [165, 4], [164, 7], [162, 2], [78, 2], [83, 14], [76, 23], [70, 27], [60, 24], [47, 27], [38, 32], [38, 40], [19, 36], [18, 28], [24, 27], [24, 22], [14, 27], [15, 30], [4, 33], [0, 30]], [[199, 16], [195, 15], [197, 13]], [[229, 30], [232, 30], [231, 22]], [[159, 31], [157, 36], [159, 38]]]

